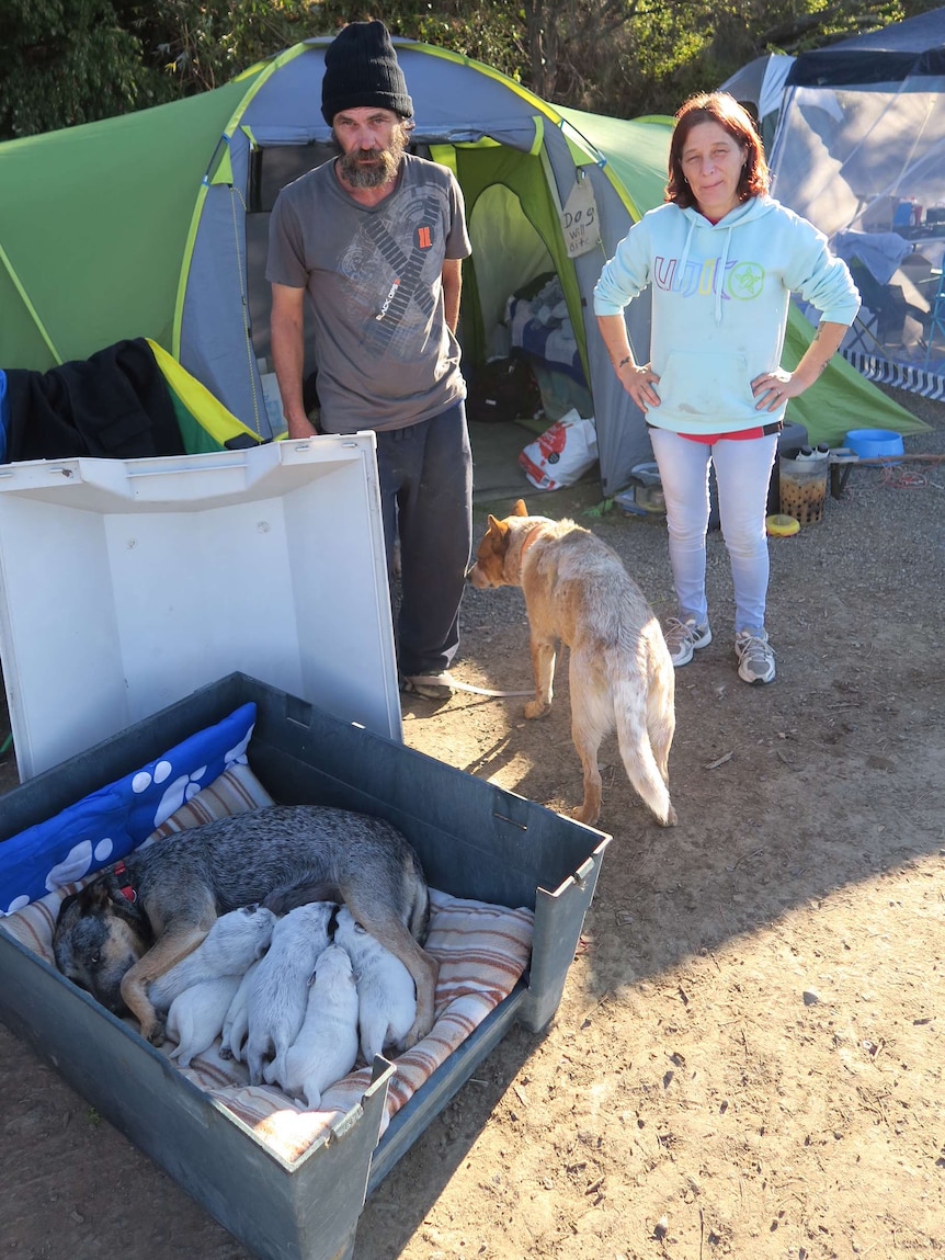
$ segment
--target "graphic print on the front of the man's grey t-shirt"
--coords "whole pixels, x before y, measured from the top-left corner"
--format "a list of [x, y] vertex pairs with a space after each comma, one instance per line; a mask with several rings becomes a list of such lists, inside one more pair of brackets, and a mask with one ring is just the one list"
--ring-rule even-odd
[[377, 354], [411, 360], [427, 336], [444, 263], [446, 197], [416, 189], [367, 218], [341, 258], [355, 299], [373, 319], [364, 345]]

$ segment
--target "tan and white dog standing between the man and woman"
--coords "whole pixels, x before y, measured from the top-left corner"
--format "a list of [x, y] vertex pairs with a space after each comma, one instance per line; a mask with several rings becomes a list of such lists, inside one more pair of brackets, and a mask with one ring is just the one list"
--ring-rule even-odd
[[519, 499], [513, 515], [489, 517], [469, 581], [480, 591], [524, 592], [536, 682], [525, 717], [548, 712], [557, 645], [571, 649], [571, 736], [585, 780], [578, 822], [593, 825], [600, 816], [597, 751], [616, 727], [630, 782], [656, 820], [673, 827], [675, 672], [659, 621], [616, 552], [573, 520], [529, 517]]

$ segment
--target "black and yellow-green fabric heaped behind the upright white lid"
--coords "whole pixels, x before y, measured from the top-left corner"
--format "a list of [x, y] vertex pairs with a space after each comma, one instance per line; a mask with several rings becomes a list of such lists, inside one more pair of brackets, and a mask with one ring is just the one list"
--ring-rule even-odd
[[261, 437], [156, 343], [116, 341], [48, 372], [0, 372], [0, 461], [193, 455]]

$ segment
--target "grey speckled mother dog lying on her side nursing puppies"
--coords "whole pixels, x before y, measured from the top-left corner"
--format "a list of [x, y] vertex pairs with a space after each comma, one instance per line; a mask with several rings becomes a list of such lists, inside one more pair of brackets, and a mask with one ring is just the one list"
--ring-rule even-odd
[[102, 871], [59, 911], [59, 970], [141, 1034], [164, 1041], [149, 985], [197, 949], [215, 920], [267, 897], [344, 902], [417, 987], [410, 1045], [430, 1032], [438, 964], [425, 949], [430, 897], [420, 859], [381, 818], [276, 805], [178, 832]]

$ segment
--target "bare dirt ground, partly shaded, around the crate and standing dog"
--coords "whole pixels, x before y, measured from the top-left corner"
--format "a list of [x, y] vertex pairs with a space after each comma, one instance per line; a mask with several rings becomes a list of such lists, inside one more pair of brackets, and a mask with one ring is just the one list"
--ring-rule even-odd
[[[945, 407], [903, 401], [935, 425], [908, 455], [945, 456]], [[529, 507], [598, 532], [672, 612], [664, 523], [598, 499]], [[513, 1031], [382, 1183], [359, 1260], [945, 1252], [945, 462], [856, 467], [771, 562], [776, 683], [735, 673], [712, 534], [679, 825], [607, 745], [614, 839], [557, 1019]], [[460, 679], [528, 685], [520, 592], [470, 590], [462, 635]], [[567, 670], [548, 718], [522, 704], [411, 701], [406, 741], [568, 811]], [[248, 1256], [4, 1029], [0, 1079], [0, 1256]]]

